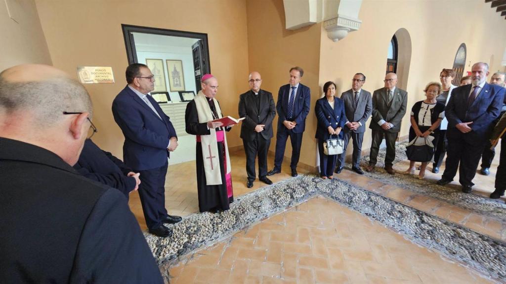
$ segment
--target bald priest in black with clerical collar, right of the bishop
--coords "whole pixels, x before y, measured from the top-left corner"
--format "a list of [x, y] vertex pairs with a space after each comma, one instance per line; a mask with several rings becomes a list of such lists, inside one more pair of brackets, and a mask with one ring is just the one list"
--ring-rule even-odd
[[272, 93], [260, 89], [262, 77], [259, 72], [249, 74], [249, 88], [239, 97], [239, 116], [245, 117], [241, 124], [241, 138], [246, 153], [246, 186], [253, 186], [256, 179], [255, 158], [258, 155], [259, 180], [267, 184], [267, 152], [271, 144], [272, 120], [276, 116], [276, 106]]

